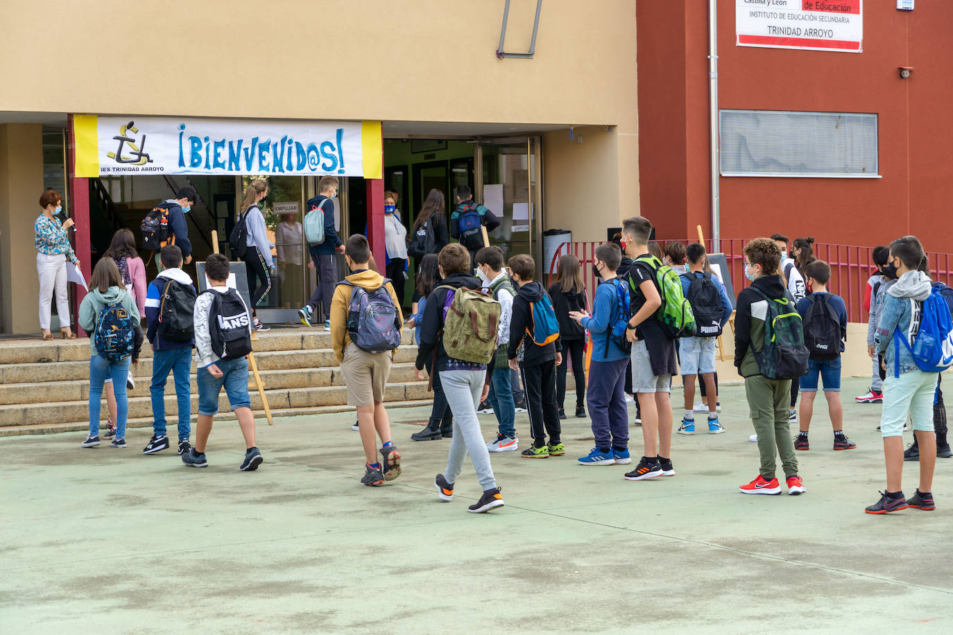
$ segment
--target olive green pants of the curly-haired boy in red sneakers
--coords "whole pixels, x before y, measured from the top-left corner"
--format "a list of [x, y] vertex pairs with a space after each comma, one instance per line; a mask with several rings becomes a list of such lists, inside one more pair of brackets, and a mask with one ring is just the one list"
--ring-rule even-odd
[[751, 423], [758, 433], [761, 476], [767, 481], [775, 477], [775, 446], [781, 455], [784, 477], [794, 476], [798, 473], [798, 459], [787, 408], [791, 403], [791, 380], [768, 379], [763, 375], [745, 377], [744, 393], [751, 408]]

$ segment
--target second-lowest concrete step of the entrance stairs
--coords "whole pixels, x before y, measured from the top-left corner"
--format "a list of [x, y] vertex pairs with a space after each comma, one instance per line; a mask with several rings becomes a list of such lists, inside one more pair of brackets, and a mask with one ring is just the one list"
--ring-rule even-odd
[[[143, 363], [145, 364], [145, 363]], [[150, 394], [152, 375], [144, 371], [144, 366], [133, 369], [135, 388], [130, 397], [142, 397]], [[311, 388], [344, 386], [344, 376], [338, 367], [293, 368], [281, 370], [261, 370], [261, 381], [266, 389], [275, 388]], [[194, 373], [190, 377], [193, 394], [197, 394]], [[391, 383], [414, 382], [414, 364], [395, 364], [388, 378]], [[255, 389], [254, 377], [249, 376], [249, 389]], [[172, 373], [166, 382], [165, 394], [175, 394]], [[56, 401], [84, 401], [90, 397], [90, 382], [86, 379], [49, 381], [33, 384], [0, 384], [0, 405], [35, 404]]]

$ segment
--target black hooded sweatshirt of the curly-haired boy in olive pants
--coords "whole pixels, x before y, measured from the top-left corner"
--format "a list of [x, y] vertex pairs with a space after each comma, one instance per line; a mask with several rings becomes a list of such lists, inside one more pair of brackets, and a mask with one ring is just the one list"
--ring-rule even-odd
[[738, 306], [735, 313], [735, 366], [741, 377], [760, 375], [761, 370], [755, 353], [764, 347], [764, 321], [767, 317], [768, 302], [758, 291], [772, 300], [783, 297], [794, 310], [794, 298], [784, 287], [781, 276], [762, 275], [756, 278], [751, 287], [742, 289], [738, 294]]

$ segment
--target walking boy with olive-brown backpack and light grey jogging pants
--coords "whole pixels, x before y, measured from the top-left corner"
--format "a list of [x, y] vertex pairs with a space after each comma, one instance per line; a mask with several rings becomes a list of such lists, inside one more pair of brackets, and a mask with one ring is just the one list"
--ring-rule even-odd
[[[492, 338], [496, 327], [491, 328], [490, 324], [498, 324], [500, 308], [493, 298], [474, 293], [480, 288], [480, 281], [470, 274], [470, 253], [462, 245], [453, 243], [442, 248], [437, 263], [443, 280], [427, 298], [415, 364], [417, 379], [423, 379], [421, 370], [433, 354], [431, 376], [434, 373], [439, 375], [447, 402], [454, 412], [454, 434], [447, 453], [447, 468], [443, 474], [436, 475], [434, 486], [441, 501], [452, 501], [456, 478], [469, 452], [483, 493], [468, 510], [482, 513], [503, 506], [503, 496], [490, 465], [490, 452], [483, 442], [476, 417], [476, 405], [481, 395], [489, 392], [486, 367], [493, 359], [497, 345]], [[484, 316], [485, 322], [476, 321], [478, 332], [469, 326], [470, 320], [465, 319], [471, 312]], [[460, 346], [455, 347], [454, 343], [460, 343]]]

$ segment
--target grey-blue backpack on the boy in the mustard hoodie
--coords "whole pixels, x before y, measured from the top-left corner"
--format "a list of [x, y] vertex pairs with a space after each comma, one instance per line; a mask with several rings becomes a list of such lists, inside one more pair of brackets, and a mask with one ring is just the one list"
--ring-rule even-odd
[[382, 353], [400, 346], [400, 311], [387, 288], [389, 278], [373, 291], [344, 280], [337, 283], [352, 287], [345, 323], [351, 341], [361, 350]]

